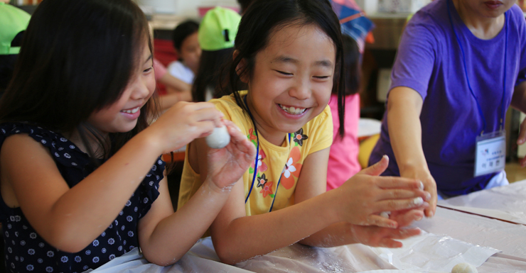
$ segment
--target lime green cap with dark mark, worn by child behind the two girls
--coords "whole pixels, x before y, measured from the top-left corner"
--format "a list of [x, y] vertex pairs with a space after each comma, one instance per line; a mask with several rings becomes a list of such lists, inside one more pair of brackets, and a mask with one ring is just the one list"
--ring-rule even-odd
[[241, 16], [232, 9], [220, 6], [210, 9], [199, 25], [198, 40], [201, 49], [208, 51], [234, 47]]

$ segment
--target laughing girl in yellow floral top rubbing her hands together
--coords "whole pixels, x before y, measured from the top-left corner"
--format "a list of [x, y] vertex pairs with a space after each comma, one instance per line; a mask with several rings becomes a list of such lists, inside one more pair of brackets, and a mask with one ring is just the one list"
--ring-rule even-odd
[[[342, 54], [338, 18], [327, 0], [254, 1], [243, 16], [230, 84], [236, 90], [239, 77], [249, 89], [211, 102], [247, 135], [257, 157], [210, 226], [222, 262], [296, 242], [400, 247], [393, 239], [419, 233], [401, 227], [422, 218], [430, 195], [417, 180], [377, 177], [387, 157], [325, 193], [333, 89], [343, 124]], [[188, 145], [179, 208], [207, 177], [207, 157], [225, 150], [211, 150], [204, 140]], [[382, 211], [392, 211], [390, 218]]]

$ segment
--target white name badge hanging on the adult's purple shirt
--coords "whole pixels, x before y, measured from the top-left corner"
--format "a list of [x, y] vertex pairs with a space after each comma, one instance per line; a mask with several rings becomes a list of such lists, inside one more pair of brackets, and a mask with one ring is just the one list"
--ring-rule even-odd
[[479, 135], [476, 143], [474, 176], [502, 171], [506, 163], [506, 132]]

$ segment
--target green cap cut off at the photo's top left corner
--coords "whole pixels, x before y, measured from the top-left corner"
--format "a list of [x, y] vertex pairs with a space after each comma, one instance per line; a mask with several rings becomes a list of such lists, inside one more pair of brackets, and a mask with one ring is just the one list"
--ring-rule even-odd
[[0, 55], [15, 55], [20, 47], [11, 47], [15, 36], [26, 30], [31, 16], [26, 11], [0, 1]]

